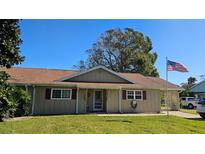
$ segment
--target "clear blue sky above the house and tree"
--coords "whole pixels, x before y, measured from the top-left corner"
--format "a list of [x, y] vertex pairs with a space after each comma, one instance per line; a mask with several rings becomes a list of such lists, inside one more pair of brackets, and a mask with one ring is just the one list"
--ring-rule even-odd
[[205, 73], [205, 20], [21, 20], [25, 61], [18, 67], [74, 69], [85, 51], [108, 29], [132, 28], [149, 36], [160, 77], [166, 77], [166, 56], [180, 62], [188, 73], [169, 72], [168, 79], [184, 83]]

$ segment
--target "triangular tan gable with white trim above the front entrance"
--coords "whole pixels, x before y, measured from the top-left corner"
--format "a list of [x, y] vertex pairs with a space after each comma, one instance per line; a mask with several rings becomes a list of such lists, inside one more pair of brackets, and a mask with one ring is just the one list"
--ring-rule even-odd
[[64, 82], [101, 82], [101, 83], [134, 83], [125, 76], [120, 75], [103, 66], [94, 67], [84, 72], [79, 72], [59, 79]]

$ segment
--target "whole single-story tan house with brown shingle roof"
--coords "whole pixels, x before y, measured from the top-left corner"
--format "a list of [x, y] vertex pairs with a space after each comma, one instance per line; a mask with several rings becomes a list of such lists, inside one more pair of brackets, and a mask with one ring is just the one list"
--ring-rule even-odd
[[[99, 66], [80, 72], [57, 69], [11, 68], [9, 82], [32, 96], [32, 114], [160, 112], [166, 81], [138, 73], [116, 73]], [[168, 83], [173, 109], [179, 86]], [[137, 105], [136, 105], [137, 103]]]

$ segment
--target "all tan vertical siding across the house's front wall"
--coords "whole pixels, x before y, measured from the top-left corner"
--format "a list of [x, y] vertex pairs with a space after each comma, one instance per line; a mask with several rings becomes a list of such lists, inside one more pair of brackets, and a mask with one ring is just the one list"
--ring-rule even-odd
[[[36, 87], [36, 100], [34, 114], [72, 114], [75, 113], [76, 100], [46, 100], [45, 90], [49, 87]], [[128, 90], [128, 89], [127, 89]], [[88, 95], [86, 96], [86, 94]], [[79, 89], [78, 112], [86, 113], [86, 104], [88, 112], [93, 111], [93, 93], [94, 89]], [[122, 112], [159, 112], [160, 111], [160, 91], [146, 90], [147, 99], [137, 101], [136, 109], [130, 105], [130, 100], [122, 100]], [[174, 94], [173, 94], [174, 95]], [[174, 97], [174, 96], [172, 96]], [[103, 106], [107, 113], [119, 112], [119, 90], [103, 90]]]

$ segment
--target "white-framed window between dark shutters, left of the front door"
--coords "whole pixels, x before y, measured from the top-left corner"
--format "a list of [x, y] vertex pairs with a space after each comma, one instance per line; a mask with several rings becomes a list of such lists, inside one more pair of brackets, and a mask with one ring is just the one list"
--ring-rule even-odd
[[71, 99], [71, 89], [52, 89], [52, 99]]

